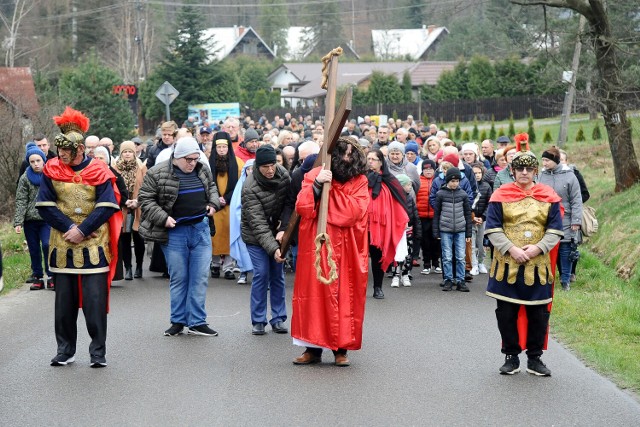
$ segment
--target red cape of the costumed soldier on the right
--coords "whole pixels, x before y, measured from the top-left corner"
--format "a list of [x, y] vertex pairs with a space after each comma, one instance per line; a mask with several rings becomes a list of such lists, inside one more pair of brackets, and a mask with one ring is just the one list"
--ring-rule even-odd
[[[558, 196], [555, 190], [548, 185], [545, 184], [535, 184], [531, 187], [530, 190], [521, 189], [515, 182], [510, 182], [508, 184], [504, 184], [498, 188], [493, 195], [491, 196], [491, 202], [517, 202], [526, 197], [533, 197], [535, 200], [540, 202], [547, 203], [558, 203], [562, 201], [562, 198]], [[562, 204], [560, 204], [560, 212], [564, 215], [564, 208]], [[556, 262], [558, 259], [558, 246], [559, 243], [554, 246], [554, 248], [549, 252], [549, 258], [551, 260], [551, 275], [555, 277], [556, 275]], [[551, 285], [552, 295], [553, 289], [555, 285], [554, 283]], [[547, 311], [551, 313], [551, 306], [553, 302], [550, 302], [547, 305]], [[523, 350], [527, 348], [527, 310], [523, 305], [520, 306], [520, 311], [518, 311], [518, 338], [520, 340], [520, 348]], [[544, 340], [543, 350], [547, 349], [547, 344], [549, 342], [549, 326], [547, 326], [547, 333]]]

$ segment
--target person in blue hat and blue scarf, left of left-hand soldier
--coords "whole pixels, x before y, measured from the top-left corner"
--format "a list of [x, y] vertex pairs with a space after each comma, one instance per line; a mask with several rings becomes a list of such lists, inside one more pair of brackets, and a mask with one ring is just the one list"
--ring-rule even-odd
[[51, 227], [44, 222], [36, 209], [36, 198], [40, 190], [42, 170], [47, 161], [47, 156], [35, 144], [27, 146], [25, 156], [29, 166], [18, 181], [16, 190], [16, 214], [13, 226], [16, 233], [24, 230], [24, 237], [29, 247], [31, 258], [31, 277], [27, 283], [31, 283], [31, 290], [44, 289], [45, 281], [42, 271], [42, 258], [44, 258], [44, 270], [47, 273], [46, 287], [53, 290], [53, 278], [49, 271], [49, 234]]

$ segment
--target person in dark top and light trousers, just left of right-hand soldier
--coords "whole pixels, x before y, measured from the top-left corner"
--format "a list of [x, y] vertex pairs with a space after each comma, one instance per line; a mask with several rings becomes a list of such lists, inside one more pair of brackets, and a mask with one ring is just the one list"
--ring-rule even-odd
[[487, 207], [489, 206], [489, 199], [491, 198], [493, 190], [489, 183], [484, 180], [484, 173], [486, 171], [484, 165], [480, 162], [475, 162], [471, 164], [471, 168], [473, 169], [473, 174], [478, 184], [478, 195], [473, 201], [473, 205], [471, 205], [471, 211], [473, 213], [471, 275], [477, 276], [479, 273], [487, 274], [487, 267], [484, 265], [484, 222], [487, 219]]

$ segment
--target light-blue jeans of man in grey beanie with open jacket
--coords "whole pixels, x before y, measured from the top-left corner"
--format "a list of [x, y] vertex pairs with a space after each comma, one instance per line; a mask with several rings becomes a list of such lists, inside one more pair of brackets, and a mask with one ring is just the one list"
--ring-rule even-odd
[[205, 301], [211, 264], [208, 219], [169, 229], [169, 241], [161, 247], [170, 277], [171, 323], [188, 327], [206, 325]]

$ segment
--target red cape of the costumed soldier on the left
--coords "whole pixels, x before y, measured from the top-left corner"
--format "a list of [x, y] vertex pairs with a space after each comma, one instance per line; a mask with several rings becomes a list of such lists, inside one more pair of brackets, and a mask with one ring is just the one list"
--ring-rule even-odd
[[[116, 196], [116, 203], [120, 204], [120, 191], [116, 185], [116, 177], [109, 170], [109, 167], [99, 160], [91, 160], [87, 167], [82, 169], [80, 173], [76, 173], [60, 161], [59, 158], [49, 160], [43, 170], [43, 173], [55, 181], [61, 182], [78, 182], [78, 176], [82, 178], [83, 184], [100, 185], [106, 181], [111, 181], [113, 192]], [[111, 290], [111, 281], [116, 274], [116, 265], [118, 263], [118, 239], [120, 239], [120, 231], [122, 228], [122, 211], [117, 211], [109, 218], [109, 249], [111, 250], [111, 262], [109, 263], [109, 276], [107, 279], [108, 292]], [[79, 282], [78, 282], [79, 283]], [[80, 288], [80, 306], [82, 306], [82, 286]], [[107, 312], [109, 311], [109, 298], [107, 296]]]

